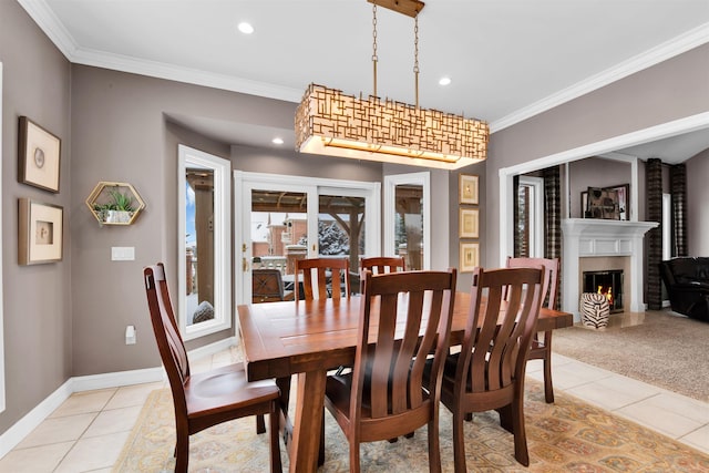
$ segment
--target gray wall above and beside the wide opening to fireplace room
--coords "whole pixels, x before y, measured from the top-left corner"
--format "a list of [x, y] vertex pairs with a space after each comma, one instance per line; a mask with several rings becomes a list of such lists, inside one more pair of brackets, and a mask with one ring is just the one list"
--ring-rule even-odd
[[500, 168], [706, 112], [708, 70], [705, 44], [494, 133], [486, 169], [486, 261], [500, 260]]

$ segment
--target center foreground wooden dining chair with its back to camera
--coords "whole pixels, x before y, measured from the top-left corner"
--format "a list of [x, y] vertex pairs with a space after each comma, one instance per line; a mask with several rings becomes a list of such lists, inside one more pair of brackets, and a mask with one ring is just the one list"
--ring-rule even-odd
[[[329, 376], [325, 405], [348, 439], [350, 472], [361, 442], [428, 424], [429, 470], [441, 471], [439, 400], [455, 299], [455, 269], [372, 275], [362, 270], [354, 366]], [[421, 337], [421, 333], [423, 336]], [[428, 356], [431, 384], [423, 389]]]

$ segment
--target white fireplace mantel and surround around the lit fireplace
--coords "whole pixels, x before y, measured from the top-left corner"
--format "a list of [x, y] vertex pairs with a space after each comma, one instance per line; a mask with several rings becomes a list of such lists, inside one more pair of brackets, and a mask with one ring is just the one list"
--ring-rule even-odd
[[657, 222], [621, 222], [594, 218], [562, 220], [563, 299], [562, 309], [574, 313], [578, 321], [580, 297], [579, 260], [585, 257], [628, 256], [630, 258], [630, 311], [645, 311], [643, 297], [643, 238], [657, 227]]

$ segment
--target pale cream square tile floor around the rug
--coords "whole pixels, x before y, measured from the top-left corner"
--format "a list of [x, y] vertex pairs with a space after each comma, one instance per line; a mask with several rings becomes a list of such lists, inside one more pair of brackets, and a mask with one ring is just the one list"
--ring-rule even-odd
[[[233, 362], [237, 348], [192, 364], [193, 371]], [[554, 388], [709, 454], [709, 403], [696, 401], [561, 354]], [[542, 380], [542, 362], [527, 376]], [[111, 472], [147, 394], [166, 383], [75, 393], [3, 459], [0, 472]]]

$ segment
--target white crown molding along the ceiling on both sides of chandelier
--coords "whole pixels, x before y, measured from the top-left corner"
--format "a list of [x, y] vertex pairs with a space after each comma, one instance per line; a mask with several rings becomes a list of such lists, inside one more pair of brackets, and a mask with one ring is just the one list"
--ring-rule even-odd
[[[72, 63], [223, 89], [287, 102], [298, 103], [302, 97], [302, 91], [299, 89], [285, 88], [224, 74], [214, 74], [154, 61], [143, 61], [102, 51], [81, 49], [44, 0], [18, 0], [18, 2]], [[709, 23], [705, 23], [598, 74], [592, 75], [500, 120], [491, 122], [490, 132], [494, 133], [504, 130], [708, 42]]]

